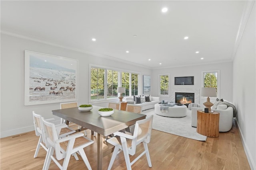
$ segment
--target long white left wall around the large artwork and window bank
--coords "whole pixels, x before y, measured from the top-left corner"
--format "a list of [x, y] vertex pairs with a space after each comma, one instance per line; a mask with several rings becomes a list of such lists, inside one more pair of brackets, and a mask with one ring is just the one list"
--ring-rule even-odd
[[[89, 64], [122, 68], [125, 70], [140, 72], [142, 75], [151, 75], [151, 70], [135, 66], [135, 64], [121, 63], [80, 53], [36, 41], [12, 37], [1, 34], [1, 112], [0, 112], [0, 137], [6, 137], [33, 131], [32, 111], [43, 117], [51, 118], [52, 110], [59, 109], [60, 104], [42, 104], [24, 106], [24, 50], [57, 55], [78, 60], [78, 104], [86, 104], [89, 101]], [[142, 87], [140, 88], [142, 92]], [[118, 101], [118, 99], [116, 100]], [[99, 106], [107, 106], [104, 103], [95, 102]]]

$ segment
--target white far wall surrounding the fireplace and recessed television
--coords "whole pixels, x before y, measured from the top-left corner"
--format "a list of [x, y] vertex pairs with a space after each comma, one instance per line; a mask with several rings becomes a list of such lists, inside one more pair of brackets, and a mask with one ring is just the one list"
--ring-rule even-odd
[[[200, 61], [198, 61], [200, 63]], [[174, 68], [163, 68], [156, 69], [152, 71], [152, 79], [158, 80], [159, 74], [170, 74], [170, 97], [163, 98], [160, 100], [171, 100], [175, 97], [172, 91], [183, 91], [183, 92], [192, 92], [195, 94], [200, 92], [200, 88], [202, 87], [202, 71], [210, 71], [210, 70], [220, 70], [220, 99], [225, 99], [232, 102], [232, 90], [233, 90], [233, 63], [213, 63], [213, 64], [204, 64], [204, 65], [196, 65], [196, 66], [182, 66], [182, 67], [174, 67]], [[174, 77], [184, 77], [184, 76], [194, 76], [194, 85], [174, 85]], [[154, 90], [152, 95], [155, 96], [158, 94], [158, 81], [152, 82], [152, 89]], [[196, 100], [196, 98], [195, 98]], [[175, 102], [175, 101], [173, 101]], [[200, 104], [203, 101], [200, 98]]]

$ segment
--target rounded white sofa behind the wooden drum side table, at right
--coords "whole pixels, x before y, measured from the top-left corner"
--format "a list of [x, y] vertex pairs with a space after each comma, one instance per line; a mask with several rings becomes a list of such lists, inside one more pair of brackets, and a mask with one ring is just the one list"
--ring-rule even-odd
[[[192, 107], [191, 109], [191, 126], [197, 127], [197, 111], [203, 110], [203, 107]], [[233, 125], [233, 107], [228, 107], [226, 109], [212, 109], [220, 113], [219, 120], [219, 131], [227, 132], [230, 131]]]

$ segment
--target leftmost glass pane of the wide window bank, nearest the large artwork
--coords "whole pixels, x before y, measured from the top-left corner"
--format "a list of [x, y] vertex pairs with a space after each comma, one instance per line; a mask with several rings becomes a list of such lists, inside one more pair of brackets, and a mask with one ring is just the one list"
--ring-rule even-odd
[[105, 98], [105, 69], [91, 68], [91, 100]]

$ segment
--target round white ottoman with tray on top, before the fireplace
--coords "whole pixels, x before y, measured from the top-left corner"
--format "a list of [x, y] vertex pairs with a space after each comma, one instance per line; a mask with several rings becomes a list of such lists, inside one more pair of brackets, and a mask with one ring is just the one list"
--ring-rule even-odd
[[166, 117], [185, 117], [187, 115], [187, 106], [172, 106], [168, 110], [161, 110], [160, 104], [155, 104], [155, 113]]

